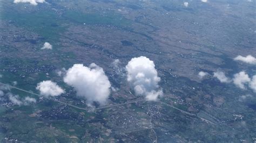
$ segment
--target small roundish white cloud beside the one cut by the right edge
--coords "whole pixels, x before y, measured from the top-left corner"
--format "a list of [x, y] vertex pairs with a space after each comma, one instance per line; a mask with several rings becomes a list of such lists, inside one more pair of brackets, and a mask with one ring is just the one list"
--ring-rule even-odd
[[245, 73], [245, 71], [241, 71], [240, 73], [234, 74], [233, 82], [237, 87], [241, 89], [245, 89], [245, 84], [251, 81], [250, 77]]

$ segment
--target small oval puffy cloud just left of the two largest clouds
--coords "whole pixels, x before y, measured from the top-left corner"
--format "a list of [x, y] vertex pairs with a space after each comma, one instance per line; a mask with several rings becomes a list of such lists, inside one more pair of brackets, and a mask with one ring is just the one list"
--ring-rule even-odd
[[57, 85], [57, 83], [52, 81], [42, 81], [37, 84], [36, 89], [39, 90], [40, 95], [44, 97], [59, 96], [60, 94], [63, 94], [65, 92]]

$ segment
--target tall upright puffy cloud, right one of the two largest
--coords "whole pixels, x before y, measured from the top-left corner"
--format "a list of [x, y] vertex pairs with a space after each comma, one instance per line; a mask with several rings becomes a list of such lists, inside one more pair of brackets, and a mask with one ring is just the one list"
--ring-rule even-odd
[[126, 65], [127, 81], [132, 84], [136, 95], [143, 95], [149, 101], [156, 101], [163, 91], [158, 90], [160, 77], [154, 62], [145, 56], [131, 59]]

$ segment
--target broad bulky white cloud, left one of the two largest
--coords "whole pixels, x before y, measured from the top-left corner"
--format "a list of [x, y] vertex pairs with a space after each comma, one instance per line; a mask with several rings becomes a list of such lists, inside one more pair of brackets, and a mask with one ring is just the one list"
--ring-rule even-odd
[[98, 102], [104, 105], [110, 95], [111, 84], [103, 69], [95, 63], [89, 67], [75, 64], [69, 68], [64, 76], [64, 82], [77, 91], [77, 96], [86, 99], [88, 105]]

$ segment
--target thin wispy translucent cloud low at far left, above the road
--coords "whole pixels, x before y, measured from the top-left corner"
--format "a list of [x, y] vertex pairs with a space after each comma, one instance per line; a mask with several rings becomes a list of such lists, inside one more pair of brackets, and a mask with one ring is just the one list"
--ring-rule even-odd
[[26, 96], [24, 99], [21, 99], [18, 95], [12, 95], [8, 94], [9, 100], [11, 101], [12, 104], [14, 105], [29, 105], [31, 103], [36, 103], [35, 98], [31, 98], [29, 96]]

